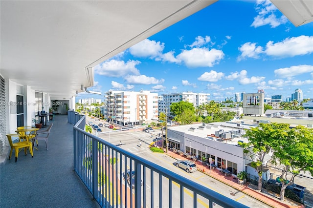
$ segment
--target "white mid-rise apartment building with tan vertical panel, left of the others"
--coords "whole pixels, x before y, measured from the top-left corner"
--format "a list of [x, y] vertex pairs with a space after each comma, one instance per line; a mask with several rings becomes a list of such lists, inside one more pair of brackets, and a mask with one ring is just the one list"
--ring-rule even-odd
[[105, 103], [105, 116], [119, 125], [147, 124], [158, 118], [157, 93], [150, 91], [108, 91]]

